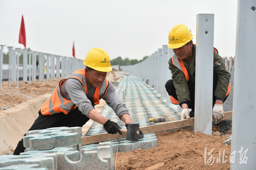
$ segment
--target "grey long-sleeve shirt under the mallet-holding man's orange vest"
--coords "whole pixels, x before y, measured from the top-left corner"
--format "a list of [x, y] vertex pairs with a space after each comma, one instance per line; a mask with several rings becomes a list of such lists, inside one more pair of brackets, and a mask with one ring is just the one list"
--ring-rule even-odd
[[[87, 93], [85, 94], [81, 86], [81, 82], [74, 78], [63, 80], [65, 83], [61, 86], [61, 94], [64, 98], [72, 100], [72, 102], [79, 108], [79, 110], [88, 117], [88, 113], [91, 109], [94, 109], [92, 105], [95, 87], [90, 86], [87, 83]], [[115, 93], [115, 88], [111, 82], [109, 82], [109, 88], [106, 94], [102, 98], [106, 104], [111, 107], [118, 118], [128, 113], [125, 104], [118, 98]]]

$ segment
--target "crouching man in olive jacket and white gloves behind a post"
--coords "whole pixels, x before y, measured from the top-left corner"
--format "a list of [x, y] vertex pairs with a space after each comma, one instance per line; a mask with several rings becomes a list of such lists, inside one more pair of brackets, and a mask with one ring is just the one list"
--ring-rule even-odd
[[[195, 116], [196, 46], [192, 38], [190, 30], [183, 24], [175, 25], [168, 35], [168, 47], [173, 49], [174, 56], [168, 62], [172, 79], [166, 82], [165, 87], [171, 102], [182, 107], [181, 119]], [[224, 118], [222, 104], [230, 92], [231, 75], [215, 48], [213, 56], [213, 117], [220, 122]], [[189, 112], [188, 108], [192, 111]]]

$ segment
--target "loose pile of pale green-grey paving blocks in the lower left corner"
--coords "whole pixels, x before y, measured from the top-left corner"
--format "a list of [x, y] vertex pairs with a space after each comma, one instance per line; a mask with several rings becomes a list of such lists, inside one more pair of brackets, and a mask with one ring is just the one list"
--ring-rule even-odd
[[0, 170], [113, 169], [111, 142], [101, 142], [95, 151], [81, 150], [81, 127], [32, 130], [23, 138], [24, 153], [0, 156]]

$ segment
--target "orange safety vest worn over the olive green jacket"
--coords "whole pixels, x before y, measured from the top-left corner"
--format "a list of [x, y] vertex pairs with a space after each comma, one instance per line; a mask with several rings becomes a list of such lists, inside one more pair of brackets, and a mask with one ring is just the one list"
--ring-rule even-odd
[[[196, 44], [194, 44], [194, 45], [196, 46]], [[218, 54], [218, 50], [217, 50], [216, 48], [213, 48], [213, 49], [214, 49], [214, 51]], [[179, 68], [179, 69], [183, 72], [183, 74], [185, 75], [186, 80], [187, 80], [187, 82], [188, 82], [188, 80], [189, 80], [189, 74], [188, 74], [188, 71], [187, 71], [186, 66], [185, 66], [184, 63], [183, 63], [183, 60], [179, 59], [176, 55], [173, 55], [173, 56], [172, 56], [172, 64], [173, 64], [174, 66], [176, 66], [177, 68]], [[226, 68], [226, 69], [227, 69], [227, 68]], [[228, 85], [228, 91], [227, 91], [226, 96], [230, 93], [230, 89], [231, 89], [231, 83], [229, 83], [229, 85]], [[172, 102], [173, 104], [179, 105], [179, 101], [177, 101], [174, 97], [170, 96], [170, 98], [171, 98], [171, 102]]]

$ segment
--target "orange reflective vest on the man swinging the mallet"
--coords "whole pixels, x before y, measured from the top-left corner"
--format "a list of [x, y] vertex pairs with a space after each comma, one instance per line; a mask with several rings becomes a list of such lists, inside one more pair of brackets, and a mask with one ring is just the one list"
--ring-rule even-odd
[[[82, 88], [84, 93], [87, 93], [87, 84], [86, 84], [86, 76], [85, 76], [85, 69], [79, 69], [76, 72], [72, 73], [68, 77], [63, 80], [75, 78], [81, 82]], [[71, 110], [75, 109], [77, 106], [72, 102], [72, 100], [68, 100], [61, 95], [60, 87], [62, 85], [61, 80], [59, 85], [54, 90], [51, 97], [47, 99], [47, 101], [43, 104], [41, 108], [41, 113], [43, 115], [52, 115], [56, 113], [63, 112], [68, 114]], [[100, 86], [95, 89], [94, 96], [93, 96], [93, 104], [98, 105], [100, 103], [100, 99], [106, 94], [109, 88], [109, 81], [105, 79], [102, 84], [106, 84], [106, 86]], [[101, 85], [102, 85], [101, 84]], [[101, 96], [100, 96], [101, 95]]]

